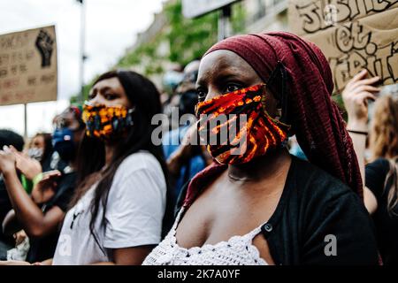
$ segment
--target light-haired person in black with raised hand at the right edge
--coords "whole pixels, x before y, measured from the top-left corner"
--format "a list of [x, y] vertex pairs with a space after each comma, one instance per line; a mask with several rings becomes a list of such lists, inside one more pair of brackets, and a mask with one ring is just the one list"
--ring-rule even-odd
[[[364, 201], [374, 220], [383, 263], [398, 265], [398, 85], [379, 88], [379, 78], [366, 79], [366, 71], [348, 82], [343, 99], [348, 111], [348, 132], [354, 141], [365, 180]], [[368, 100], [376, 102], [368, 114]], [[364, 166], [368, 117], [370, 164]]]

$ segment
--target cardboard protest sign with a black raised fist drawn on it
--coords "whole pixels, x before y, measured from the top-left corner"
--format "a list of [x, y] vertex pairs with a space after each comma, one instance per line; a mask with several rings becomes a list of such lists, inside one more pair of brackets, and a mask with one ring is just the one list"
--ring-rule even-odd
[[57, 100], [55, 27], [0, 35], [0, 105]]

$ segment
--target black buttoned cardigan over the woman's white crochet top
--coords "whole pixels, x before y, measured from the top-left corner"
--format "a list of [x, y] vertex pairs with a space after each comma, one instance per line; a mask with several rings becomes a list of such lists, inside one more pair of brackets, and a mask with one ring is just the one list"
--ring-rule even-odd
[[[327, 172], [292, 158], [278, 206], [262, 226], [275, 264], [379, 264], [363, 201]], [[180, 205], [186, 193], [184, 187]]]

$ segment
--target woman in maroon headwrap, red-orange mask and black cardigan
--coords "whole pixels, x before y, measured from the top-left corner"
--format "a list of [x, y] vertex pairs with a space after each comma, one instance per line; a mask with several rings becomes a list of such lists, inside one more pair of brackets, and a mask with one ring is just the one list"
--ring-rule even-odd
[[[144, 264], [378, 264], [318, 47], [287, 33], [228, 38], [204, 55], [197, 91], [214, 163], [183, 191], [172, 230]], [[288, 154], [293, 134], [310, 163]]]

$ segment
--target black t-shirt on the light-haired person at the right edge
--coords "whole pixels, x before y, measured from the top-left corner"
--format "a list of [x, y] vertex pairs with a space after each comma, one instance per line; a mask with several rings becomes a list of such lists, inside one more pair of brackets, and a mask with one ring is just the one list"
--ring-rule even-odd
[[[390, 164], [387, 159], [379, 158], [366, 165], [365, 180], [373, 195], [378, 200], [378, 209], [373, 214], [376, 226], [379, 251], [384, 264], [398, 265], [398, 206], [393, 212], [387, 209], [387, 198], [392, 179], [387, 180]], [[386, 186], [385, 186], [386, 185]]]

